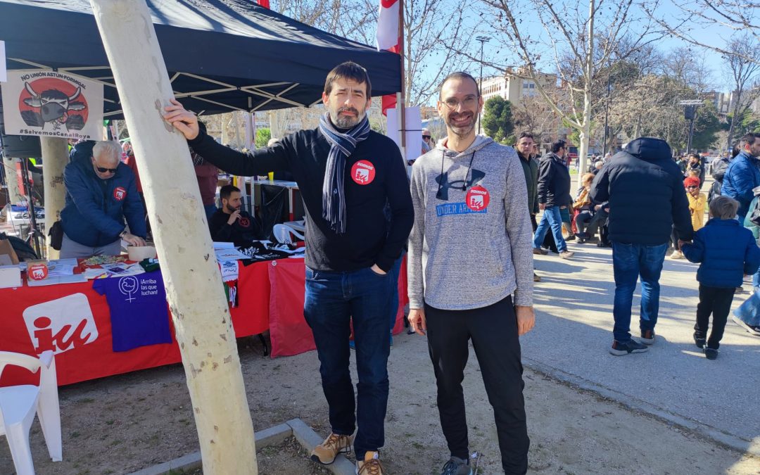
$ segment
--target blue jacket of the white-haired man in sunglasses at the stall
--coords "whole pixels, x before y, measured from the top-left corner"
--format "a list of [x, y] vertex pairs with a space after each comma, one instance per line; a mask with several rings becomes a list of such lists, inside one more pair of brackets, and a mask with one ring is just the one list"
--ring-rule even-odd
[[135, 174], [124, 163], [109, 179], [98, 178], [90, 160], [74, 160], [63, 171], [66, 204], [61, 211], [63, 230], [74, 242], [90, 247], [108, 245], [125, 229], [144, 238], [145, 211]]

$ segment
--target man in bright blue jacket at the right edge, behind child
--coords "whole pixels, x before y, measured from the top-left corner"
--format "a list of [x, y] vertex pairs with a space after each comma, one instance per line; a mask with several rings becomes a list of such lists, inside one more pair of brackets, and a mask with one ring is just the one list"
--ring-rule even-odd
[[739, 150], [739, 155], [731, 160], [723, 177], [720, 195], [739, 201], [736, 217], [739, 223], [743, 223], [749, 203], [755, 198], [752, 188], [760, 186], [760, 134], [750, 132], [743, 136], [739, 140]]

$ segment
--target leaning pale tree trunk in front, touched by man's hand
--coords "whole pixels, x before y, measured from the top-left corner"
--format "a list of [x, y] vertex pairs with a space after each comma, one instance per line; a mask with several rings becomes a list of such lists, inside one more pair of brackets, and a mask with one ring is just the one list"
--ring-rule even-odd
[[150, 13], [144, 0], [90, 3], [135, 138], [204, 473], [258, 473], [235, 334], [188, 145], [161, 117], [173, 92]]

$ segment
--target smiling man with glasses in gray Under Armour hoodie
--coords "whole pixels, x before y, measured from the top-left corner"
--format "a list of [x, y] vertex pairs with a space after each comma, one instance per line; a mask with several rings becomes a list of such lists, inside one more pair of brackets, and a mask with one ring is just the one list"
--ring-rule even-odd
[[446, 475], [471, 473], [461, 386], [470, 338], [505, 473], [526, 473], [530, 445], [518, 338], [535, 320], [527, 187], [515, 150], [475, 134], [481, 109], [473, 77], [449, 74], [438, 102], [448, 137], [412, 167], [409, 321], [428, 336]]

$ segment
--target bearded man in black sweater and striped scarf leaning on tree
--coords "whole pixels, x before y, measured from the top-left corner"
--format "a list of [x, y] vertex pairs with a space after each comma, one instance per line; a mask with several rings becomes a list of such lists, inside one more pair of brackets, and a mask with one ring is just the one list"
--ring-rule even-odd
[[[382, 473], [378, 448], [385, 443], [388, 403], [388, 300], [397, 285], [386, 274], [401, 255], [414, 218], [401, 153], [391, 139], [369, 128], [371, 97], [364, 68], [352, 62], [338, 65], [325, 81], [322, 102], [328, 112], [319, 127], [250, 154], [199, 132], [195, 114], [176, 100], [164, 115], [193, 150], [226, 172], [293, 173], [306, 205], [304, 316], [314, 333], [332, 428], [312, 459], [331, 464], [339, 452], [350, 450], [358, 426], [357, 473]], [[352, 320], [357, 411], [349, 372]]]

